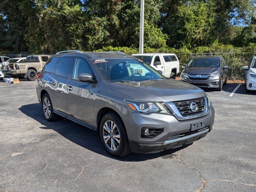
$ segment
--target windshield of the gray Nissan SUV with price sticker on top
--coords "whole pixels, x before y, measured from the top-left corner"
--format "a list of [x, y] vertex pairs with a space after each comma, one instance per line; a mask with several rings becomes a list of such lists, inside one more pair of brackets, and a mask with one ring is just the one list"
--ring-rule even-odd
[[102, 79], [108, 82], [166, 79], [154, 68], [132, 58], [92, 59]]

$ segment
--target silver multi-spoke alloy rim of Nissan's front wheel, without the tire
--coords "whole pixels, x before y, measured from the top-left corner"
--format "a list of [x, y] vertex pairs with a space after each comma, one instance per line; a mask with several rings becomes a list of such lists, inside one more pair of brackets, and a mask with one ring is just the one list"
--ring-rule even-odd
[[104, 123], [103, 128], [103, 139], [106, 146], [112, 151], [117, 150], [120, 144], [120, 132], [118, 127], [113, 121], [108, 120]]

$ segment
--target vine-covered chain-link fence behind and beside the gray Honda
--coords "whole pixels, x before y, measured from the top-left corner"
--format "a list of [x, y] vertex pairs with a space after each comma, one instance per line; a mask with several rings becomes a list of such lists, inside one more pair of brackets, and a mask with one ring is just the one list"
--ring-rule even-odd
[[249, 66], [254, 57], [253, 53], [190, 53], [188, 59], [196, 56], [222, 56], [228, 69], [228, 80], [244, 80], [246, 70], [243, 66]]

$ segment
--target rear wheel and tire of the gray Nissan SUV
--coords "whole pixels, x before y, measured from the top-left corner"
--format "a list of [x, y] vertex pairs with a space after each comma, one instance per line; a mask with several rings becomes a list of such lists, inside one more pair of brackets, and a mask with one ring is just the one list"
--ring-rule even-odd
[[52, 101], [48, 94], [44, 94], [42, 98], [42, 110], [46, 120], [52, 122], [58, 119], [58, 115], [53, 112]]

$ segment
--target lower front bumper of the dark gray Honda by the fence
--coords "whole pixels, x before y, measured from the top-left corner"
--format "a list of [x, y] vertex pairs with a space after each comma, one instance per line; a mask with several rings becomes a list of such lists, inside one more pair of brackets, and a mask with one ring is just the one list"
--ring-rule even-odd
[[[186, 78], [186, 77], [182, 76], [180, 78], [180, 80], [183, 82], [198, 86], [198, 87], [205, 87], [205, 88], [218, 88], [220, 86], [220, 82], [221, 82], [219, 77], [209, 78], [206, 80], [197, 80], [197, 79], [194, 80], [194, 79], [190, 79], [190, 78]], [[225, 80], [223, 80], [223, 81], [225, 81]]]

